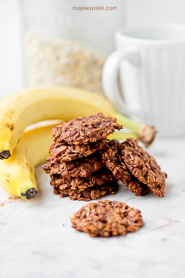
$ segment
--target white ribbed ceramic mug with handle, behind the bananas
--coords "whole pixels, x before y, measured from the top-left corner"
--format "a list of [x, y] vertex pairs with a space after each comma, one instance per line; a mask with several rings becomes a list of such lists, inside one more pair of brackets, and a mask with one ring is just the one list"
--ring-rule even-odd
[[115, 42], [102, 74], [107, 98], [160, 136], [185, 134], [185, 25], [124, 27]]

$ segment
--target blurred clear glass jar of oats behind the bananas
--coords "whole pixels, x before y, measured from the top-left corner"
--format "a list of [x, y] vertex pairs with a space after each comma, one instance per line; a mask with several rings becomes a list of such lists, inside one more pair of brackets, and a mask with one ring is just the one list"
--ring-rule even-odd
[[[114, 1], [113, 6], [120, 3]], [[102, 68], [114, 47], [113, 33], [124, 23], [124, 7], [121, 3], [117, 11], [74, 9], [93, 2], [78, 4], [21, 1], [26, 86], [73, 86], [103, 94]], [[106, 6], [111, 4], [106, 1]]]

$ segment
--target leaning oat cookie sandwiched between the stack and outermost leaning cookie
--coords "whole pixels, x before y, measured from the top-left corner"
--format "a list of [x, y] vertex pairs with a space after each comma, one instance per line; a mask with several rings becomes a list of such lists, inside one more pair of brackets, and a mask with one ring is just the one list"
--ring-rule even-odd
[[142, 196], [146, 193], [148, 187], [139, 182], [126, 167], [121, 154], [121, 144], [117, 140], [109, 141], [104, 149], [101, 150], [102, 162], [113, 173], [116, 179], [120, 180], [136, 196]]

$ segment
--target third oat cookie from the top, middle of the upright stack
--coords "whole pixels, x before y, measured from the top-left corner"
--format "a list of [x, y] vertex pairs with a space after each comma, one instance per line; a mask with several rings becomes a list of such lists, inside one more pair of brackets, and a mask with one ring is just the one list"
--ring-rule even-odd
[[53, 174], [60, 174], [68, 177], [88, 177], [103, 167], [99, 152], [84, 158], [77, 158], [69, 162], [58, 162], [56, 158], [47, 158], [48, 164], [43, 165], [43, 169]]

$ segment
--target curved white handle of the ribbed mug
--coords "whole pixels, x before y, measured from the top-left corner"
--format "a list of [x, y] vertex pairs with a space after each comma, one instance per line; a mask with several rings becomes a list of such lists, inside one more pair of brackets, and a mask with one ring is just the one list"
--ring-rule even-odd
[[140, 56], [136, 50], [115, 50], [106, 59], [102, 71], [102, 86], [105, 96], [112, 102], [119, 110], [124, 109], [124, 112], [129, 116], [137, 116], [141, 113], [139, 110], [133, 110], [128, 107], [125, 101], [122, 99], [118, 84], [117, 77], [119, 73], [119, 66], [123, 59], [127, 59], [133, 65], [138, 66], [140, 64]]

